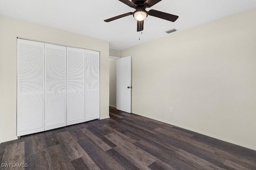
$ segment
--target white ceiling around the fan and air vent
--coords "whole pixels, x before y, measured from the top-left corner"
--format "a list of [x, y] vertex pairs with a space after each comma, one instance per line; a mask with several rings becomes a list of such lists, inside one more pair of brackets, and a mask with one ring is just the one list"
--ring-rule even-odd
[[166, 36], [165, 31], [173, 28], [186, 30], [252, 8], [256, 8], [256, 0], [162, 0], [146, 10], [174, 14], [178, 20], [148, 16], [139, 40], [132, 15], [103, 21], [134, 12], [118, 0], [0, 0], [0, 15], [107, 40], [117, 50]]

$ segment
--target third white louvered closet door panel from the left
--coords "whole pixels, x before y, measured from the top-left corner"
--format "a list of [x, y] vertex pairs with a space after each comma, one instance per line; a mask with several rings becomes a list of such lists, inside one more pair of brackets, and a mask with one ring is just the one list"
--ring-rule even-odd
[[85, 121], [85, 50], [67, 47], [67, 125]]

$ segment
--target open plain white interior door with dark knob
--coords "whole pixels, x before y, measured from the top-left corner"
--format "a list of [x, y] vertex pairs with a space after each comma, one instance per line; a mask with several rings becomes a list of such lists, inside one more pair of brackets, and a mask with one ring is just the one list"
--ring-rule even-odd
[[132, 67], [131, 56], [116, 61], [116, 109], [131, 113]]

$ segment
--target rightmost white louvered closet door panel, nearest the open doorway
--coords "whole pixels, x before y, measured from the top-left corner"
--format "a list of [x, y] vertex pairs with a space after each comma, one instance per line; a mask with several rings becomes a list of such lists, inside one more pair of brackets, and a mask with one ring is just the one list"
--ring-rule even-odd
[[86, 50], [85, 121], [100, 118], [100, 52]]

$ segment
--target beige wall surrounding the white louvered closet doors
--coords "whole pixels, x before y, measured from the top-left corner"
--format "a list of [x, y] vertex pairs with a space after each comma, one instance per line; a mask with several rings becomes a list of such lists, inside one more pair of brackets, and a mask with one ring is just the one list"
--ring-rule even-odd
[[17, 37], [100, 51], [100, 119], [108, 118], [109, 43], [0, 16], [0, 142], [16, 139]]

